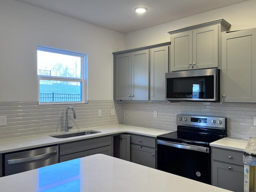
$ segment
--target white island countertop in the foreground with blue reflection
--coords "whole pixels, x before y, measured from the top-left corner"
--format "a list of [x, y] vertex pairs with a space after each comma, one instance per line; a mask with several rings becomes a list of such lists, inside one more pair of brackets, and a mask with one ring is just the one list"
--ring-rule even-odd
[[174, 174], [96, 154], [0, 178], [4, 192], [228, 192]]

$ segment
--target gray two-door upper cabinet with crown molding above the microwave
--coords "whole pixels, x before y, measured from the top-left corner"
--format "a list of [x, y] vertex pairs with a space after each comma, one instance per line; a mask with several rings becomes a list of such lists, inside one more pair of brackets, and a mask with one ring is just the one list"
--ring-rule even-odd
[[218, 67], [220, 32], [230, 28], [223, 19], [168, 32], [170, 71]]

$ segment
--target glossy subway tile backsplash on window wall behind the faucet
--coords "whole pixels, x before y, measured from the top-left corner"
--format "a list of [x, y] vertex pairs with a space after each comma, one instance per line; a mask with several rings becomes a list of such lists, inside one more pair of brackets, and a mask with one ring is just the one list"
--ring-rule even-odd
[[[68, 113], [73, 130], [124, 123], [124, 103], [113, 100], [89, 101], [88, 104], [38, 105], [37, 102], [0, 102], [0, 114], [6, 115], [6, 126], [0, 127], [0, 139], [64, 131], [65, 111], [73, 106], [76, 119]], [[102, 117], [98, 117], [98, 109]], [[115, 116], [111, 116], [111, 109]]]

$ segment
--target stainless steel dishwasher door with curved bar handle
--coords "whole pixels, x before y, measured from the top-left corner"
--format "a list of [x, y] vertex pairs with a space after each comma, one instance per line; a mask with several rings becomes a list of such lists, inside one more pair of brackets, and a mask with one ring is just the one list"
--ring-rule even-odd
[[58, 163], [58, 146], [4, 155], [4, 176]]

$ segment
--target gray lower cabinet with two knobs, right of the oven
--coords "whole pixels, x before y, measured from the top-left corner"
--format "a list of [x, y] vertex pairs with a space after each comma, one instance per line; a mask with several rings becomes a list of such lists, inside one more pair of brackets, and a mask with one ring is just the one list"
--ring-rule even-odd
[[242, 152], [212, 148], [212, 185], [234, 192], [244, 191]]

